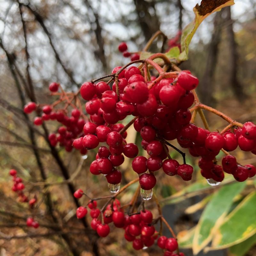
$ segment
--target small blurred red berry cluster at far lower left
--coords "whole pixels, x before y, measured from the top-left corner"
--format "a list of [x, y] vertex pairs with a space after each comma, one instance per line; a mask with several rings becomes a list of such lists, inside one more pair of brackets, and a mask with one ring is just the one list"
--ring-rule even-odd
[[[22, 183], [22, 179], [20, 177], [17, 176], [17, 171], [14, 169], [10, 170], [10, 175], [13, 177], [13, 186], [12, 186], [12, 191], [16, 192], [19, 196], [20, 202], [22, 203], [28, 203], [29, 207], [31, 209], [34, 208], [35, 204], [36, 204], [36, 196], [34, 196], [33, 198], [31, 198], [30, 200], [28, 199], [28, 196], [26, 196], [23, 192], [25, 185]], [[28, 217], [27, 219], [27, 226], [28, 227], [34, 227], [34, 228], [38, 228], [39, 224], [37, 221], [35, 221], [32, 217]]]

